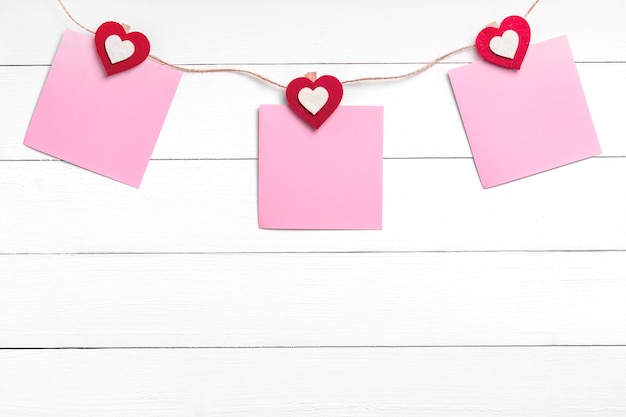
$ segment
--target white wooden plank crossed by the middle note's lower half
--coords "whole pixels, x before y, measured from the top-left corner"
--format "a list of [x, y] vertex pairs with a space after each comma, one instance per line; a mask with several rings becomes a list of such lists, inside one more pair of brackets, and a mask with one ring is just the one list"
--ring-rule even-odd
[[382, 231], [257, 226], [256, 161], [152, 161], [140, 189], [64, 162], [0, 163], [0, 252], [626, 249], [622, 159], [483, 190], [462, 160], [386, 160]]

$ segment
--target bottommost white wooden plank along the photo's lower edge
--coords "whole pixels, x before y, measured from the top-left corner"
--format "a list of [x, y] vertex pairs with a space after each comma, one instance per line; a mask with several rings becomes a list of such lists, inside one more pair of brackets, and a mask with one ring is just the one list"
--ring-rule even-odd
[[626, 348], [0, 352], [12, 417], [626, 414]]

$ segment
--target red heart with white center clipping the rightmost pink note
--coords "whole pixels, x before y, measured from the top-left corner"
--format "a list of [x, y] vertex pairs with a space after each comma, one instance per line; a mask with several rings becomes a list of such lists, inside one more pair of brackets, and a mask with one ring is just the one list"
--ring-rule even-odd
[[509, 16], [499, 28], [487, 27], [476, 36], [476, 50], [485, 61], [517, 70], [522, 66], [529, 44], [530, 26], [519, 16]]

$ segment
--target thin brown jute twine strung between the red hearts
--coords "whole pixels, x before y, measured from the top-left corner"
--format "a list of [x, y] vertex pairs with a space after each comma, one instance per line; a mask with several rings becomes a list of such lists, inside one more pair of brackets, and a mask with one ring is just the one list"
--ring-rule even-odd
[[[72, 16], [72, 14], [70, 13], [70, 11], [67, 9], [67, 7], [65, 7], [65, 4], [63, 3], [63, 0], [57, 0], [59, 2], [59, 4], [61, 5], [61, 7], [63, 8], [63, 11], [65, 12], [65, 14], [67, 15], [67, 17], [70, 18], [70, 20], [72, 22], [74, 22], [78, 27], [80, 27], [81, 29], [83, 29], [86, 32], [89, 32], [91, 34], [95, 34], [96, 32], [89, 29], [88, 27], [84, 26], [83, 24], [81, 24], [78, 20], [76, 20], [74, 18], [74, 16]], [[528, 11], [524, 14], [524, 18], [528, 17], [528, 15], [530, 14], [530, 12], [533, 11], [533, 9], [535, 8], [535, 6], [539, 3], [539, 1], [541, 0], [535, 0], [534, 3], [530, 6], [530, 8], [528, 9]], [[398, 80], [400, 78], [408, 78], [408, 77], [412, 77], [414, 75], [418, 75], [421, 74], [422, 72], [427, 71], [428, 69], [432, 68], [434, 65], [438, 64], [439, 62], [443, 61], [446, 58], [451, 57], [452, 55], [455, 55], [459, 52], [462, 51], [466, 51], [468, 49], [472, 49], [474, 48], [475, 45], [466, 45], [463, 46], [461, 48], [455, 49], [454, 51], [448, 52], [446, 54], [443, 54], [435, 59], [433, 59], [430, 62], [427, 62], [426, 64], [424, 64], [423, 66], [421, 66], [420, 68], [416, 69], [415, 71], [411, 71], [411, 72], [407, 72], [406, 74], [400, 74], [400, 75], [390, 75], [390, 76], [386, 76], [386, 77], [362, 77], [362, 78], [354, 78], [351, 80], [346, 80], [346, 81], [342, 81], [342, 84], [350, 84], [350, 83], [358, 83], [358, 82], [362, 82], [362, 81], [389, 81], [389, 80]], [[286, 85], [280, 84], [268, 77], [265, 77], [264, 75], [258, 74], [254, 71], [248, 71], [248, 70], [244, 70], [244, 69], [237, 69], [237, 68], [189, 68], [189, 67], [183, 67], [180, 65], [176, 65], [176, 64], [171, 64], [167, 61], [162, 60], [161, 58], [150, 54], [149, 58], [152, 59], [155, 62], [158, 62], [161, 65], [165, 65], [166, 67], [169, 68], [173, 68], [179, 71], [183, 71], [183, 72], [189, 72], [189, 73], [211, 73], [211, 72], [234, 72], [234, 73], [239, 73], [239, 74], [245, 74], [245, 75], [249, 75], [251, 77], [257, 78], [263, 82], [266, 82], [268, 84], [271, 84], [273, 86], [279, 87], [279, 88], [287, 88]]]

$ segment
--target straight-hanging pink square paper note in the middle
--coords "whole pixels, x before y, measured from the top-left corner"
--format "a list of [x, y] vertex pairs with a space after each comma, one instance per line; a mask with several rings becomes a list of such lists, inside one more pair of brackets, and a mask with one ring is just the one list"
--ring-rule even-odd
[[381, 229], [383, 108], [339, 106], [318, 130], [259, 110], [259, 227]]

